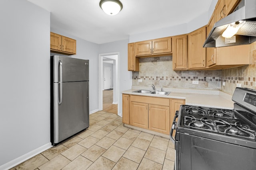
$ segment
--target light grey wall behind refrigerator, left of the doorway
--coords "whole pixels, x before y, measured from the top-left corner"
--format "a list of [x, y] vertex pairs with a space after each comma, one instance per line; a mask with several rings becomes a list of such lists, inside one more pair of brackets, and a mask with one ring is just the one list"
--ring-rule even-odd
[[[89, 111], [98, 109], [98, 51], [99, 45], [74, 37], [69, 33], [51, 27], [51, 32], [76, 39], [76, 55], [72, 58], [89, 60]], [[53, 53], [51, 53], [53, 55]], [[58, 55], [58, 54], [56, 54]]]

